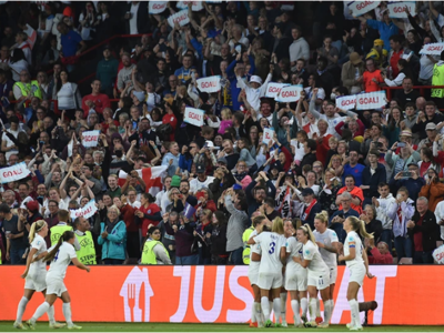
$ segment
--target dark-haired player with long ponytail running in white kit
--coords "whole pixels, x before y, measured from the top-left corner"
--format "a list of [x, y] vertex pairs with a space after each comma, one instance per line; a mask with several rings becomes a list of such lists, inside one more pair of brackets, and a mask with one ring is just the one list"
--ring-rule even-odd
[[71, 261], [78, 269], [90, 272], [90, 268], [83, 265], [77, 259], [75, 250], [73, 248], [74, 241], [75, 235], [72, 231], [63, 232], [57, 245], [54, 248], [51, 248], [50, 252], [43, 258], [43, 262], [51, 261], [51, 265], [49, 268], [46, 279], [47, 295], [44, 302], [36, 310], [36, 313], [27, 322], [27, 325], [32, 330], [36, 329], [37, 320], [41, 317], [43, 313], [48, 312], [52, 304], [54, 304], [57, 297], [61, 297], [63, 301], [62, 310], [64, 319], [67, 320], [68, 329], [82, 329], [81, 326], [74, 325], [72, 323], [70, 304], [71, 297], [63, 283], [63, 279], [67, 275], [68, 265], [71, 263]]

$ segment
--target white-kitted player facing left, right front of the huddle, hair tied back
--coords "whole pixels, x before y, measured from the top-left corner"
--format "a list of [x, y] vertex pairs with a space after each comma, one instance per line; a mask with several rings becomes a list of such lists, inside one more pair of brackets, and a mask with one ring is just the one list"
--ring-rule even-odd
[[[303, 255], [301, 260], [294, 256], [293, 261], [307, 269], [307, 289], [310, 295], [310, 311], [316, 313], [316, 297], [317, 291], [321, 291], [321, 297], [324, 302], [324, 317], [330, 317], [330, 272], [325, 262], [322, 260], [321, 253], [317, 250], [316, 240], [309, 224], [304, 224], [297, 229], [297, 241], [304, 244]], [[317, 325], [316, 321], [310, 319], [305, 323], [309, 327], [327, 327], [326, 322]]]

